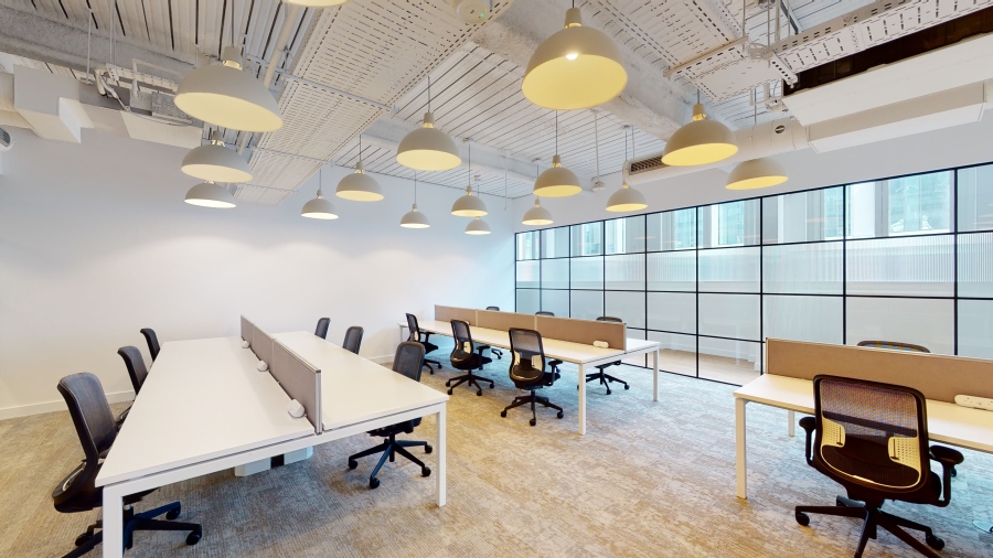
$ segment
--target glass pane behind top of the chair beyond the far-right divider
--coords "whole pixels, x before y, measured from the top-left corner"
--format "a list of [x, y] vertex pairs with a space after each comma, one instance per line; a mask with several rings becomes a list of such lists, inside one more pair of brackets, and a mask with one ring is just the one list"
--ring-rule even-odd
[[859, 341], [898, 341], [952, 354], [953, 301], [941, 299], [874, 299], [850, 297], [848, 345]]

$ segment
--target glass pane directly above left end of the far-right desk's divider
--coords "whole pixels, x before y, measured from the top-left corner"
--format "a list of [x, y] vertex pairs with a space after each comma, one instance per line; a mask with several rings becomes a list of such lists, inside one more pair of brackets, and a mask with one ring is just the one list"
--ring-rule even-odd
[[762, 297], [762, 335], [814, 343], [842, 344], [841, 297]]

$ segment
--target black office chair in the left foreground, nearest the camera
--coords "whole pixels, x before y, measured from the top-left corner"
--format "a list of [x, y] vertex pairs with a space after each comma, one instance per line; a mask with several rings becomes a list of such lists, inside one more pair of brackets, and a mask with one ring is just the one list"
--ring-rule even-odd
[[[58, 382], [58, 393], [65, 399], [70, 416], [76, 426], [79, 443], [83, 446], [85, 458], [83, 463], [76, 466], [52, 491], [52, 500], [55, 509], [64, 514], [89, 512], [104, 504], [104, 489], [95, 485], [97, 474], [100, 472], [102, 459], [110, 451], [110, 446], [117, 437], [117, 428], [114, 426], [114, 417], [110, 415], [110, 405], [104, 395], [100, 380], [88, 373], [73, 374]], [[153, 519], [166, 514], [167, 519], [179, 517], [182, 506], [173, 502], [148, 512], [135, 513], [132, 505], [156, 489], [130, 494], [124, 497], [124, 546], [131, 548], [134, 533], [136, 530], [189, 530], [186, 544], [195, 545], [203, 537], [203, 527], [195, 523], [173, 523], [171, 521]], [[107, 511], [104, 511], [106, 514]], [[103, 522], [90, 525], [85, 533], [76, 537], [76, 548], [65, 555], [65, 558], [83, 556], [104, 540]]]

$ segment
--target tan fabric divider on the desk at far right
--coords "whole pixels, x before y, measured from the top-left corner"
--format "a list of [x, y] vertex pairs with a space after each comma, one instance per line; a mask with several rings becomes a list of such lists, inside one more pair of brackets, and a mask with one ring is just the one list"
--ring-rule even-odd
[[818, 374], [912, 387], [928, 399], [955, 403], [957, 395], [993, 398], [993, 362], [802, 341], [767, 340], [767, 372], [813, 379]]

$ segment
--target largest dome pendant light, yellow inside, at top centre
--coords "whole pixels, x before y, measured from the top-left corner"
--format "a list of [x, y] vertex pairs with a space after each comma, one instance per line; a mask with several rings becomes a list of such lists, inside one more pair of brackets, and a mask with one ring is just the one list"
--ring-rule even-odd
[[540, 107], [574, 110], [617, 97], [627, 83], [620, 50], [604, 32], [584, 26], [574, 3], [566, 11], [565, 29], [531, 55], [521, 89]]

